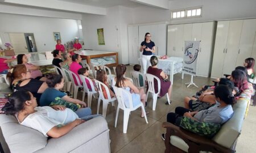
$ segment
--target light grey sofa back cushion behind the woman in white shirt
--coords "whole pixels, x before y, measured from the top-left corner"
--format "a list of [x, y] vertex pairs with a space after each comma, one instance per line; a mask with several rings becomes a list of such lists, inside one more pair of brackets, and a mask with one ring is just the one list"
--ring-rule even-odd
[[19, 125], [14, 116], [0, 114], [0, 126], [11, 152], [35, 152], [47, 144], [47, 137], [39, 131]]

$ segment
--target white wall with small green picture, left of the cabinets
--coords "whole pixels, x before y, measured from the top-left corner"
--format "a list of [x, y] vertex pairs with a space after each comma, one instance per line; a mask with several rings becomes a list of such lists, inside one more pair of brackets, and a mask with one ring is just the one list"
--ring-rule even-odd
[[[127, 25], [132, 22], [131, 9], [110, 7], [107, 15], [82, 15], [85, 48], [118, 52], [119, 63], [129, 63]], [[104, 28], [105, 45], [98, 45], [97, 29]]]

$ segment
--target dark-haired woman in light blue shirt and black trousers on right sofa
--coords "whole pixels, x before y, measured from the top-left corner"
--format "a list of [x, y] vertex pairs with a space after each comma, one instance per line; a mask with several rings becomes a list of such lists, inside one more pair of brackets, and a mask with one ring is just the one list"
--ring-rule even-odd
[[[210, 122], [213, 124], [224, 124], [233, 116], [232, 105], [236, 103], [236, 99], [232, 94], [232, 89], [225, 85], [217, 86], [214, 89], [214, 99], [216, 105], [199, 112], [190, 112], [189, 109], [176, 107], [175, 113], [167, 114], [167, 122], [179, 125], [177, 118], [188, 117], [199, 122]], [[165, 135], [162, 134], [165, 139]]]

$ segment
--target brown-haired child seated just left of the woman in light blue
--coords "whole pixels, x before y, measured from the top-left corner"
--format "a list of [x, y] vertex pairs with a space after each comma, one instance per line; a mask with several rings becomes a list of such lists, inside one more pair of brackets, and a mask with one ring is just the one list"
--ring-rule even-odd
[[[113, 88], [109, 86], [109, 83], [107, 81], [108, 76], [106, 75], [105, 70], [97, 70], [96, 80], [106, 84], [106, 86], [109, 88], [110, 96], [116, 97]], [[106, 89], [104, 87], [102, 87], [102, 91], [103, 91], [103, 95], [104, 95], [105, 99], [108, 99], [108, 95], [107, 95]]]

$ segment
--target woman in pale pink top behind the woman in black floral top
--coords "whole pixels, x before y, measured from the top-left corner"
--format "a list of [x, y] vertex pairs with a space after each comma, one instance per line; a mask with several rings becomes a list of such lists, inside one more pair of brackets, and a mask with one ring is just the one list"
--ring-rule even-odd
[[31, 71], [31, 78], [46, 81], [46, 78], [43, 77], [42, 72], [39, 70], [40, 67], [27, 62], [28, 59], [25, 54], [18, 54], [17, 64], [24, 64], [27, 70]]

